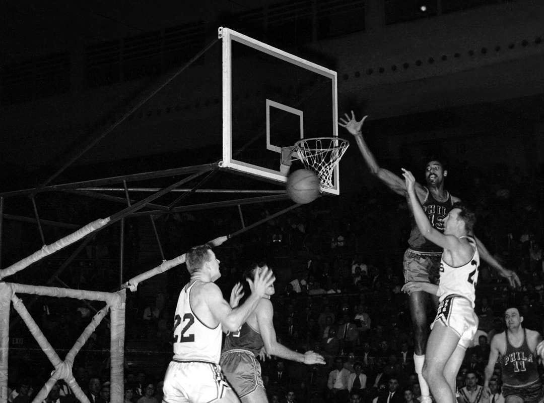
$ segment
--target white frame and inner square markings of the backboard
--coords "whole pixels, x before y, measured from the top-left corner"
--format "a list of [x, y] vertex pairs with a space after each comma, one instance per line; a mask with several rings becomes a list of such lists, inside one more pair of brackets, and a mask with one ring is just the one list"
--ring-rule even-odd
[[[255, 50], [269, 54], [270, 56], [279, 58], [287, 63], [294, 64], [301, 68], [310, 70], [319, 75], [323, 75], [331, 80], [332, 93], [332, 122], [331, 136], [338, 137], [338, 93], [337, 93], [337, 73], [336, 71], [327, 69], [316, 63], [302, 59], [294, 54], [280, 50], [279, 48], [265, 44], [264, 42], [250, 38], [244, 34], [240, 34], [230, 28], [220, 27], [218, 30], [219, 38], [222, 39], [222, 168], [236, 170], [238, 172], [259, 176], [268, 180], [285, 183], [287, 176], [280, 171], [281, 166], [281, 149], [271, 146], [269, 149], [278, 153], [278, 170], [272, 170], [264, 167], [259, 167], [254, 164], [239, 161], [232, 156], [232, 41], [254, 48]], [[270, 103], [267, 101], [267, 107]], [[268, 112], [268, 111], [267, 111]], [[300, 112], [300, 114], [299, 114]], [[302, 111], [295, 112], [301, 117]], [[301, 120], [302, 122], [302, 120]], [[301, 138], [303, 136], [303, 127], [301, 123]], [[267, 133], [269, 138], [269, 135]], [[294, 145], [294, 144], [293, 144]], [[268, 148], [268, 147], [267, 147]], [[326, 188], [323, 192], [330, 194], [339, 194], [339, 167], [334, 170], [333, 188]]]

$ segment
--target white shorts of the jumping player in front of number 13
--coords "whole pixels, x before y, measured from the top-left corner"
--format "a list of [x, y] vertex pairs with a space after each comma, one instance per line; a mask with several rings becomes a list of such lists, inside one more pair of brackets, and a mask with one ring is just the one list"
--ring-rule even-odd
[[457, 333], [459, 335], [457, 344], [463, 349], [471, 346], [472, 339], [478, 331], [478, 316], [474, 313], [472, 303], [459, 295], [448, 296], [438, 305], [431, 329], [436, 322], [442, 322], [444, 326]]

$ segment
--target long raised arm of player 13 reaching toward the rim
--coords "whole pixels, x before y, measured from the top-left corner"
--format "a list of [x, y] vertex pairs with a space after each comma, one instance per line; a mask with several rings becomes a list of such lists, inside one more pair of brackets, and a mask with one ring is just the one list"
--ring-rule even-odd
[[[363, 126], [364, 120], [367, 116], [364, 116], [360, 121], [355, 119], [355, 113], [351, 111], [351, 117], [345, 113], [343, 118], [340, 118], [338, 125], [344, 127], [348, 132], [353, 135], [359, 151], [363, 156], [364, 162], [367, 163], [370, 173], [377, 176], [379, 180], [384, 182], [384, 184], [390, 188], [393, 192], [400, 194], [400, 196], [406, 196], [406, 185], [404, 180], [399, 176], [392, 173], [390, 170], [381, 168], [378, 165], [378, 161], [368, 148], [367, 143], [363, 139], [363, 133], [361, 132], [361, 127]], [[423, 200], [425, 197], [425, 189], [423, 186], [416, 184], [416, 193], [420, 200]]]

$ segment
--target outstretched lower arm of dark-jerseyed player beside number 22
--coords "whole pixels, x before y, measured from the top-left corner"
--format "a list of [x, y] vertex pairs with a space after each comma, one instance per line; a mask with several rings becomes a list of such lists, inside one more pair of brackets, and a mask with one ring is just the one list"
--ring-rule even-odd
[[301, 362], [307, 365], [312, 364], [325, 364], [325, 359], [313, 351], [306, 351], [301, 354], [299, 352], [288, 349], [281, 343], [277, 342], [276, 330], [274, 329], [274, 323], [272, 317], [274, 316], [274, 308], [272, 303], [267, 298], [262, 298], [261, 302], [256, 310], [257, 322], [259, 324], [259, 331], [263, 338], [264, 348], [267, 354], [276, 357], [289, 359], [290, 361]]

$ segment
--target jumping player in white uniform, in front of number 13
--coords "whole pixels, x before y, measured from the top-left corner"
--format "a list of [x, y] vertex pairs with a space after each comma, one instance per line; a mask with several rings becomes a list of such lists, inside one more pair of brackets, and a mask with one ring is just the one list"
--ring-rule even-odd
[[403, 169], [410, 208], [421, 234], [443, 248], [440, 260], [440, 283], [410, 281], [403, 291], [428, 292], [438, 296], [440, 305], [426, 346], [423, 377], [432, 395], [440, 403], [454, 403], [455, 377], [465, 352], [478, 330], [474, 313], [475, 288], [480, 257], [471, 236], [476, 221], [473, 211], [461, 203], [453, 205], [443, 219], [443, 233], [434, 228], [416, 194], [416, 180]]

